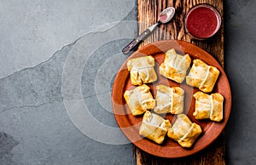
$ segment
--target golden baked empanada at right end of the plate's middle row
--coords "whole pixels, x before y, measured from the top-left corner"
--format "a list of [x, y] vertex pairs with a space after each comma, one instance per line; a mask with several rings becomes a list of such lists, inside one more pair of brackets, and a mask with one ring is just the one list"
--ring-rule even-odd
[[204, 94], [197, 92], [195, 98], [195, 119], [211, 119], [220, 122], [223, 119], [224, 97], [221, 94]]

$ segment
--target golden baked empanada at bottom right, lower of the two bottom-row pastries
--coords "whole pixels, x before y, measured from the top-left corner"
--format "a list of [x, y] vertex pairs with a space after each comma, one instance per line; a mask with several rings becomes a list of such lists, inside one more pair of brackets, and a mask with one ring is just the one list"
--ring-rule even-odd
[[178, 142], [179, 145], [189, 148], [195, 139], [201, 134], [200, 125], [191, 122], [189, 117], [184, 114], [177, 115], [177, 120], [168, 129], [167, 136]]

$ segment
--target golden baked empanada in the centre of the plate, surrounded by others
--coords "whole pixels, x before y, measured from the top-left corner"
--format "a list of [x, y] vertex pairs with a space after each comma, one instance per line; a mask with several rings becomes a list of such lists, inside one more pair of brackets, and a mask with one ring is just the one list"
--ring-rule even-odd
[[156, 106], [155, 113], [179, 114], [183, 112], [184, 90], [179, 87], [167, 87], [165, 85], [156, 86]]

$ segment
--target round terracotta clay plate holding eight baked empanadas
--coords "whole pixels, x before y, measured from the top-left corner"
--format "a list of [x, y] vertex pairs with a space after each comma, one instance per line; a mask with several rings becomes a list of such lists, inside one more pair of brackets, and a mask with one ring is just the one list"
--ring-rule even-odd
[[[218, 68], [220, 75], [218, 77], [218, 82], [215, 84], [215, 87], [212, 90], [212, 93], [220, 93], [224, 96], [224, 119], [221, 122], [212, 122], [210, 120], [196, 120], [192, 115], [195, 111], [195, 99], [193, 94], [199, 91], [198, 88], [189, 87], [183, 81], [183, 83], [175, 83], [172, 80], [166, 79], [159, 74], [159, 65], [165, 59], [165, 53], [167, 50], [175, 48], [178, 54], [189, 54], [192, 60], [200, 59], [205, 61], [208, 65], [213, 65]], [[158, 84], [169, 85], [170, 87], [181, 87], [185, 91], [184, 95], [184, 114], [187, 114], [192, 122], [196, 122], [202, 128], [203, 133], [195, 141], [194, 145], [191, 148], [185, 149], [177, 144], [176, 141], [168, 138], [162, 145], [157, 145], [154, 141], [150, 139], [145, 139], [139, 135], [139, 127], [143, 120], [143, 115], [133, 117], [128, 105], [125, 102], [123, 97], [125, 90], [135, 88], [131, 85], [131, 79], [129, 71], [127, 70], [126, 63], [128, 60], [141, 57], [145, 55], [152, 55], [155, 60], [155, 71], [158, 75], [158, 80], [154, 83], [147, 84], [151, 88], [151, 93], [155, 96], [155, 87]], [[191, 62], [192, 65], [192, 62]], [[189, 68], [190, 69], [190, 68]], [[188, 71], [189, 71], [188, 69]], [[215, 139], [218, 138], [218, 135], [224, 130], [226, 123], [228, 122], [230, 116], [231, 108], [231, 91], [230, 83], [226, 77], [223, 68], [218, 64], [218, 61], [215, 60], [212, 55], [208, 54], [205, 50], [191, 44], [177, 40], [166, 40], [156, 43], [150, 43], [147, 46], [137, 50], [135, 53], [125, 60], [125, 63], [119, 69], [119, 72], [113, 83], [113, 92], [112, 92], [112, 102], [113, 102], [113, 113], [116, 119], [116, 122], [119, 125], [119, 128], [123, 131], [125, 136], [131, 140], [131, 142], [142, 149], [143, 151], [148, 152], [154, 156], [175, 158], [182, 156], [189, 156], [194, 154], [197, 151], [201, 151], [207, 145], [210, 145]], [[169, 119], [170, 122], [175, 122], [176, 116], [172, 114], [166, 114], [164, 116], [166, 119]]]

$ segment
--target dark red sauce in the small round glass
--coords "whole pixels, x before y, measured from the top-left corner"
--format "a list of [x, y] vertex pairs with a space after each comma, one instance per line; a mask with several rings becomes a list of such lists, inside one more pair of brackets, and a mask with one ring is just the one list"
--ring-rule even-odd
[[207, 7], [193, 9], [187, 15], [186, 27], [189, 33], [195, 37], [212, 37], [218, 28], [218, 16]]

